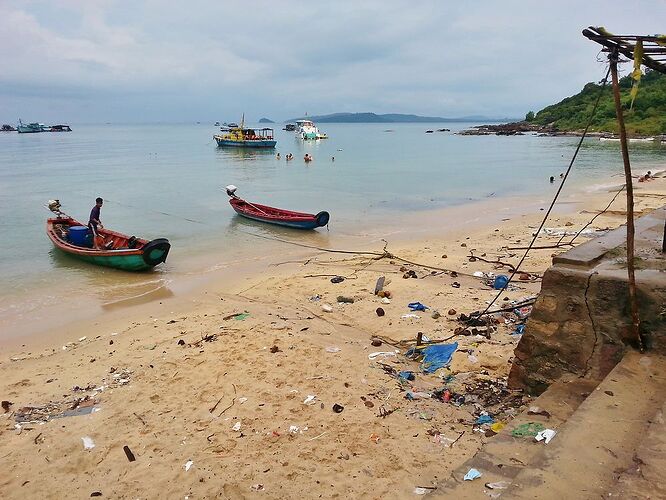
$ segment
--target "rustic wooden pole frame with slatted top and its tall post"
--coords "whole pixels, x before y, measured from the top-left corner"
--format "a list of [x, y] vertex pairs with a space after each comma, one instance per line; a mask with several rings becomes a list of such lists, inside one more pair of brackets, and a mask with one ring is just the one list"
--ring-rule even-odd
[[[627, 274], [629, 278], [629, 302], [633, 327], [632, 333], [634, 334], [642, 352], [644, 346], [640, 334], [640, 317], [638, 314], [638, 302], [636, 299], [636, 275], [634, 266], [634, 189], [631, 178], [631, 165], [629, 163], [629, 149], [627, 148], [627, 133], [624, 128], [624, 113], [620, 101], [620, 85], [617, 76], [617, 65], [620, 55], [635, 61], [636, 46], [640, 42], [642, 50], [639, 50], [638, 55], [641, 60], [637, 62], [650, 69], [666, 74], [666, 36], [614, 35], [606, 31], [604, 28], [594, 28], [592, 26], [583, 30], [583, 36], [602, 45], [602, 52], [608, 53], [608, 61], [613, 81], [615, 115], [617, 116], [618, 128], [620, 129], [620, 146], [622, 148], [622, 161], [624, 163], [624, 175], [627, 186]], [[664, 224], [662, 251], [666, 252], [666, 223]]]

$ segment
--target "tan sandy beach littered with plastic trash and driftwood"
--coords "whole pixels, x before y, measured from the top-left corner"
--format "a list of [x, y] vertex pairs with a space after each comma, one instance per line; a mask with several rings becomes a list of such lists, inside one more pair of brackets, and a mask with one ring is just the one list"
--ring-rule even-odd
[[[576, 233], [613, 195], [563, 199], [537, 244]], [[636, 211], [664, 197], [664, 178], [636, 184]], [[509, 423], [529, 402], [505, 387], [518, 318], [488, 335], [456, 332], [456, 318], [493, 299], [489, 273], [509, 274], [548, 201], [491, 200], [340, 240], [365, 254], [284, 245], [186, 292], [12, 336], [0, 346], [3, 498], [418, 497], [493, 439], [474, 425], [484, 412]], [[589, 229], [622, 224], [624, 203]], [[532, 251], [495, 306], [538, 294], [567, 248]], [[374, 293], [380, 277], [389, 297]], [[405, 356], [418, 333], [458, 343], [448, 368], [426, 374]], [[429, 397], [444, 388], [464, 401]]]

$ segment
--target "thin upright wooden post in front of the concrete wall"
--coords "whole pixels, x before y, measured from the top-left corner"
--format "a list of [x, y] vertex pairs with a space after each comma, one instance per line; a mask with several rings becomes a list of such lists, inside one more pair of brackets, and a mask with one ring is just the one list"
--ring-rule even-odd
[[617, 61], [619, 53], [613, 50], [608, 57], [610, 61], [611, 76], [613, 79], [613, 98], [615, 100], [615, 114], [620, 129], [620, 146], [622, 148], [622, 161], [624, 163], [624, 178], [627, 184], [627, 275], [629, 278], [629, 306], [631, 307], [632, 333], [638, 341], [638, 348], [643, 352], [643, 339], [640, 334], [640, 318], [638, 316], [638, 302], [636, 300], [636, 273], [634, 269], [634, 186], [631, 178], [631, 164], [629, 163], [629, 150], [627, 148], [627, 131], [624, 128], [624, 115], [620, 101], [620, 83], [617, 78]]

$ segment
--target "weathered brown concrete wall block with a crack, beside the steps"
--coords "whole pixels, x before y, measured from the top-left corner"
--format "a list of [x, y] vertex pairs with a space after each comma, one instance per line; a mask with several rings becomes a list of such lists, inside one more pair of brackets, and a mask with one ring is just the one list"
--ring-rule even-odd
[[[666, 354], [666, 209], [636, 223], [636, 281], [645, 346]], [[515, 351], [509, 385], [540, 394], [563, 376], [601, 380], [636, 349], [628, 300], [626, 229], [618, 228], [553, 259]], [[623, 257], [624, 256], [624, 257]]]

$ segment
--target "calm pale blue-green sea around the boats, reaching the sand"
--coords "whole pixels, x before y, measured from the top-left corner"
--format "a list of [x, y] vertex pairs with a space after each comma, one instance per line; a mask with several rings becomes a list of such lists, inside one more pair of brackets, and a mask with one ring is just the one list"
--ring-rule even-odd
[[[326, 246], [336, 235], [379, 237], [396, 221], [416, 226], [424, 213], [444, 207], [550, 198], [579, 140], [456, 134], [474, 125], [321, 124], [329, 138], [304, 142], [275, 124], [277, 147], [268, 151], [219, 148], [212, 123], [73, 123], [67, 133], [0, 133], [0, 340], [61, 305], [68, 314], [77, 314], [77, 304], [90, 313], [279, 255], [278, 240]], [[438, 131], [444, 128], [450, 131]], [[304, 162], [306, 153], [314, 161]], [[663, 169], [665, 156], [660, 144], [631, 145], [637, 173]], [[588, 138], [567, 189], [609, 189], [623, 183], [622, 172], [619, 144]], [[248, 201], [326, 210], [329, 226], [306, 234], [242, 219], [228, 203], [229, 184]], [[131, 274], [52, 247], [48, 201], [59, 199], [64, 212], [86, 222], [98, 196], [106, 227], [170, 240], [166, 265]]]

